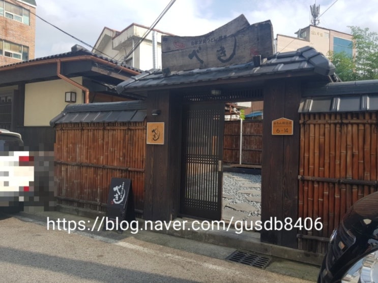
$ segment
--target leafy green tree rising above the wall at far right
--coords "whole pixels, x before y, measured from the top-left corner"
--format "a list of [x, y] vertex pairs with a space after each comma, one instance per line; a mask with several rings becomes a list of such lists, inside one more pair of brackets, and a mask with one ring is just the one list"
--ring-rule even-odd
[[369, 28], [348, 27], [352, 31], [356, 54], [351, 58], [344, 52], [330, 53], [336, 74], [343, 81], [378, 79], [378, 34]]

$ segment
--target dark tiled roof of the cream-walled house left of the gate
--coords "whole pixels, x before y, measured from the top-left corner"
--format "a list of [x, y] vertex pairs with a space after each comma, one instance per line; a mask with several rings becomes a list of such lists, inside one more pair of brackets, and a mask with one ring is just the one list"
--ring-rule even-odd
[[48, 59], [65, 58], [65, 57], [73, 57], [73, 56], [80, 56], [80, 55], [91, 55], [91, 56], [94, 56], [94, 57], [106, 60], [108, 62], [111, 62], [113, 64], [116, 64], [118, 66], [125, 67], [125, 68], [128, 68], [130, 70], [136, 71], [138, 73], [143, 72], [142, 70], [140, 70], [138, 68], [131, 67], [131, 66], [126, 65], [124, 63], [120, 64], [117, 60], [113, 60], [113, 59], [110, 59], [108, 57], [92, 53], [88, 49], [86, 49], [86, 48], [84, 48], [84, 47], [82, 47], [82, 46], [80, 46], [78, 44], [72, 46], [70, 52], [61, 53], [61, 54], [55, 54], [55, 55], [49, 55], [49, 56], [35, 58], [35, 59], [31, 59], [31, 60], [27, 60], [27, 61], [22, 61], [22, 62], [17, 62], [17, 63], [5, 65], [5, 66], [0, 66], [0, 71], [2, 71], [2, 68], [9, 67], [9, 66], [22, 65], [22, 64], [25, 64], [27, 62], [43, 61], [43, 60], [48, 60]]

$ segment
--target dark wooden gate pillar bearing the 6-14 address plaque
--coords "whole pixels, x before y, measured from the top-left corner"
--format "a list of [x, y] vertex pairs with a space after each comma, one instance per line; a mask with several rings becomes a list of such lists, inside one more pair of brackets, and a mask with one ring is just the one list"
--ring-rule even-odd
[[[277, 80], [264, 89], [263, 169], [261, 171], [261, 221], [273, 219], [273, 230], [261, 231], [262, 242], [297, 248], [297, 229], [274, 229], [274, 217], [293, 225], [298, 219], [299, 114], [300, 82]], [[272, 121], [294, 120], [291, 136], [273, 136]]]

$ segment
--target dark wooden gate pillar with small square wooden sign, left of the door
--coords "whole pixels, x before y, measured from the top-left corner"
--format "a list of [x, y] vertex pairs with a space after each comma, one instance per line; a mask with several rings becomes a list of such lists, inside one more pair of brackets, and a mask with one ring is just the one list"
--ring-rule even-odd
[[[160, 115], [152, 116], [159, 109]], [[164, 122], [164, 144], [146, 145], [143, 218], [169, 221], [177, 216], [180, 192], [181, 103], [169, 91], [151, 92], [147, 122]]]

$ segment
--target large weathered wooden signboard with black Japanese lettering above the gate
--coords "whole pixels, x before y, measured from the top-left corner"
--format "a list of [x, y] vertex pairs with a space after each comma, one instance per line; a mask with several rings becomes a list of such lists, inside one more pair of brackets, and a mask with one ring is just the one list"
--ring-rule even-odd
[[249, 24], [244, 15], [198, 37], [162, 36], [162, 69], [185, 71], [249, 62], [273, 54], [270, 20]]

